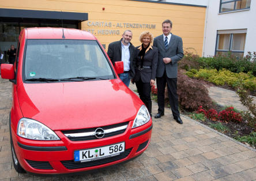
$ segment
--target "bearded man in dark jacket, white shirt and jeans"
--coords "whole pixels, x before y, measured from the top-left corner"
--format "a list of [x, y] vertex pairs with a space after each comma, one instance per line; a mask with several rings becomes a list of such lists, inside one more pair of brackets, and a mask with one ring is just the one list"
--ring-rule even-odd
[[126, 30], [123, 32], [121, 40], [110, 43], [107, 52], [113, 65], [115, 65], [116, 61], [123, 62], [124, 72], [119, 77], [126, 86], [129, 86], [130, 80], [135, 74], [133, 67], [134, 46], [130, 43], [132, 38], [133, 33], [130, 30]]

